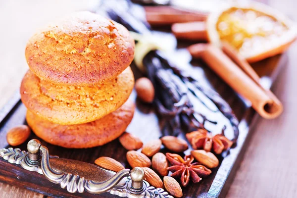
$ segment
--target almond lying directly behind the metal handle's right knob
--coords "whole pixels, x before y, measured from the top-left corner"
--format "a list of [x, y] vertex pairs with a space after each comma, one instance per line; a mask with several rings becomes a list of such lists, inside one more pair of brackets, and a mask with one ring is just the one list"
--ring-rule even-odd
[[149, 167], [151, 165], [150, 159], [147, 155], [137, 152], [135, 150], [130, 150], [126, 154], [127, 161], [132, 168], [135, 167]]

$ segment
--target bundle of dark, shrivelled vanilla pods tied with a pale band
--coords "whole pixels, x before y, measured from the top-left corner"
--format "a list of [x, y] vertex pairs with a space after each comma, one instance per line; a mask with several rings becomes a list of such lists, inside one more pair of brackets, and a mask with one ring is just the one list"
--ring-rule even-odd
[[[134, 4], [130, 3], [130, 6]], [[105, 9], [111, 19], [121, 23], [128, 30], [140, 34], [150, 33], [149, 27], [135, 17], [135, 13], [127, 10], [120, 11], [122, 9], [117, 5], [107, 6]], [[170, 58], [158, 50], [150, 51], [144, 57], [143, 64], [155, 88], [154, 105], [157, 108], [159, 119], [163, 119], [165, 123], [162, 130], [163, 136], [168, 134], [177, 136], [183, 129], [190, 132], [205, 128], [207, 122], [217, 124], [207, 119], [206, 115], [197, 112], [197, 107], [203, 105], [209, 112], [220, 111], [229, 120], [234, 131], [233, 141], [236, 142], [239, 135], [239, 122], [229, 104], [218, 93], [200, 84], [186, 71], [179, 69], [170, 61]], [[192, 102], [193, 99], [195, 103]], [[222, 133], [225, 129], [224, 126]]]

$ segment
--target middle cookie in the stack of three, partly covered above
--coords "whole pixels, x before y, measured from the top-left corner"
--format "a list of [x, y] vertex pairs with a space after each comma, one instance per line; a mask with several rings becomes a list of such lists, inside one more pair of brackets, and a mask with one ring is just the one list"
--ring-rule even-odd
[[95, 87], [58, 86], [30, 70], [21, 83], [21, 100], [38, 116], [61, 125], [92, 122], [118, 109], [130, 96], [134, 76], [130, 67], [115, 79]]

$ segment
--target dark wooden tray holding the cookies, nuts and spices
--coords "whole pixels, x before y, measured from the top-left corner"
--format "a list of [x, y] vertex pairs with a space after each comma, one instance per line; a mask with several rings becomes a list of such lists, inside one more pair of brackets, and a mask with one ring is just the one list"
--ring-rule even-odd
[[[166, 38], [175, 41], [170, 34], [166, 34]], [[199, 81], [209, 84], [210, 87], [216, 90], [230, 104], [237, 118], [240, 120], [240, 135], [236, 147], [230, 149], [230, 152], [224, 158], [219, 158], [220, 165], [218, 168], [212, 169], [210, 176], [202, 179], [198, 184], [190, 183], [187, 188], [183, 189], [184, 198], [224, 197], [232, 182], [238, 165], [240, 164], [245, 148], [247, 147], [247, 141], [251, 135], [251, 131], [249, 130], [251, 124], [253, 121], [256, 121], [258, 116], [254, 110], [250, 108], [248, 102], [245, 102], [237, 96], [236, 93], [234, 93], [232, 89], [230, 89], [206, 65], [198, 60], [190, 62], [191, 56], [184, 49], [184, 47], [190, 44], [191, 43], [185, 42], [179, 44], [178, 49], [174, 52], [174, 56], [179, 63], [183, 63], [185, 68], [194, 70], [192, 73], [198, 77]], [[286, 61], [287, 55], [283, 54], [253, 65], [256, 72], [261, 76], [265, 88], [270, 88], [272, 86], [272, 82], [275, 80], [281, 67], [286, 65]], [[132, 65], [132, 68], [135, 77], [140, 77], [141, 75], [137, 68], [134, 65]], [[132, 93], [131, 99], [136, 99], [135, 92]], [[153, 107], [151, 105], [144, 105], [138, 100], [136, 100], [136, 104], [137, 109], [133, 121], [129, 125], [127, 131], [140, 137], [144, 143], [159, 138], [161, 132]], [[20, 124], [26, 124], [25, 113], [26, 108], [21, 103], [19, 93], [17, 92], [0, 111], [0, 148], [9, 147], [5, 136], [10, 128]], [[34, 138], [39, 139], [32, 133], [28, 141]], [[49, 148], [49, 153], [51, 155], [58, 155], [59, 157], [76, 159], [89, 163], [94, 163], [95, 159], [99, 156], [109, 156], [120, 161], [125, 167], [131, 168], [126, 161], [127, 150], [120, 145], [118, 140], [114, 140], [102, 147], [89, 149], [67, 149], [50, 145], [42, 140], [41, 142]], [[26, 145], [27, 142], [17, 148], [27, 150]], [[161, 151], [166, 152], [164, 148]], [[190, 149], [185, 153], [188, 154], [189, 151]], [[2, 158], [0, 158], [0, 181], [50, 197], [105, 198], [111, 196], [109, 194], [92, 195], [89, 193], [70, 194], [66, 190], [61, 189], [59, 185], [49, 182], [43, 175], [24, 170], [19, 165], [10, 164]]]

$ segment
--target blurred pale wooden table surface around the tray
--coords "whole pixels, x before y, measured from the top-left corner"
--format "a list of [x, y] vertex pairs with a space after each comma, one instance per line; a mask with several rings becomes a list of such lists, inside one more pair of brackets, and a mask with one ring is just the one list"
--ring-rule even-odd
[[[45, 22], [76, 10], [90, 9], [98, 0], [0, 1], [0, 107], [19, 89], [28, 69], [26, 41]], [[297, 0], [268, 0], [272, 7], [297, 21]], [[297, 197], [297, 42], [273, 92], [284, 104], [277, 119], [259, 118], [228, 198]], [[43, 195], [0, 183], [1, 198], [43, 198]]]

